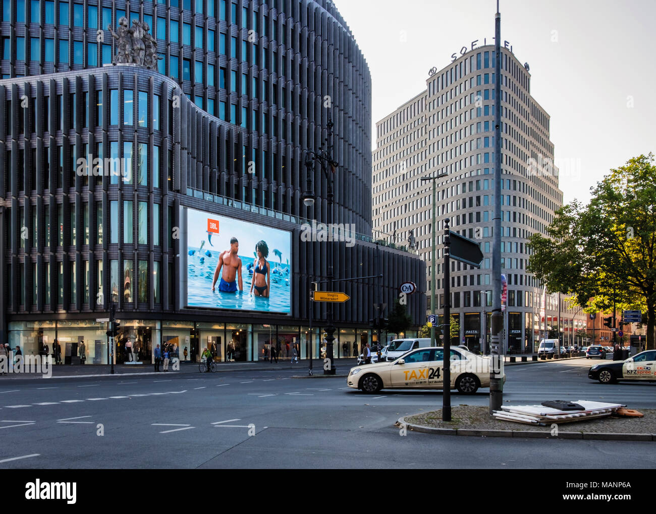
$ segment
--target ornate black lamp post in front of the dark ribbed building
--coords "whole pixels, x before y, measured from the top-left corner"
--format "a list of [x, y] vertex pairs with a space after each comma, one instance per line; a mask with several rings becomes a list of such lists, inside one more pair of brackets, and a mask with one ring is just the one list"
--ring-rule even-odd
[[[328, 225], [328, 230], [331, 230], [331, 238], [329, 239], [329, 249], [328, 249], [328, 257], [326, 259], [327, 262], [327, 267], [328, 267], [328, 290], [332, 291], [333, 290], [333, 278], [335, 278], [335, 274], [333, 272], [333, 174], [335, 173], [335, 170], [337, 169], [337, 161], [333, 159], [333, 121], [331, 119], [328, 120], [327, 123], [327, 137], [326, 137], [326, 142], [327, 142], [327, 150], [321, 150], [321, 152], [314, 152], [312, 150], [307, 150], [305, 154], [305, 165], [308, 169], [308, 177], [307, 177], [307, 187], [305, 192], [303, 193], [303, 203], [310, 207], [311, 205], [314, 205], [314, 189], [312, 187], [312, 172], [314, 171], [314, 165], [315, 161], [319, 161], [319, 165], [321, 166], [321, 171], [323, 172], [323, 176], [326, 178], [327, 182], [327, 194], [326, 194], [326, 200], [327, 200], [327, 207], [328, 207], [328, 213], [327, 213], [327, 225]], [[335, 375], [335, 372], [337, 371], [335, 368], [334, 360], [333, 360], [333, 341], [335, 341], [335, 326], [334, 326], [334, 320], [333, 320], [333, 304], [331, 302], [328, 302], [328, 305], [326, 306], [326, 317], [327, 317], [327, 326], [325, 328], [326, 331], [326, 358], [330, 360], [329, 368], [326, 370], [324, 366], [323, 374], [324, 375]]]

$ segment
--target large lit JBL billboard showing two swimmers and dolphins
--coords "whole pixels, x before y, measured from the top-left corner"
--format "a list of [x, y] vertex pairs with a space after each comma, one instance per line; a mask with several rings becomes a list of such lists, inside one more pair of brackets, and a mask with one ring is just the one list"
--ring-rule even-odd
[[186, 306], [290, 312], [291, 232], [186, 209]]

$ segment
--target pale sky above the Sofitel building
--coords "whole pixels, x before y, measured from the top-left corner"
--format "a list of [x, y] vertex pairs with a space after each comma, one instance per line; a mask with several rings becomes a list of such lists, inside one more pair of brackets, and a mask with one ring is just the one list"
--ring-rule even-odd
[[[495, 0], [333, 0], [369, 64], [375, 123], [425, 89], [479, 39], [492, 44]], [[634, 156], [656, 154], [653, 0], [501, 0], [501, 39], [529, 63], [531, 95], [550, 115], [564, 202]]]

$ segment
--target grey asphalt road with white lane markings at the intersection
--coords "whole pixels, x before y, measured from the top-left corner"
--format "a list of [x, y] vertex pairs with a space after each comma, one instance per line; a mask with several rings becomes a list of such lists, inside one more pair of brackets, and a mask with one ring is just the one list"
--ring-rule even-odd
[[[601, 385], [587, 377], [591, 363], [506, 366], [504, 401], [602, 398], [656, 408], [656, 383]], [[656, 465], [652, 442], [401, 436], [394, 422], [440, 408], [440, 392], [363, 395], [345, 377], [293, 378], [304, 371], [0, 380], [0, 469]], [[454, 391], [452, 404], [488, 398], [487, 389]]]

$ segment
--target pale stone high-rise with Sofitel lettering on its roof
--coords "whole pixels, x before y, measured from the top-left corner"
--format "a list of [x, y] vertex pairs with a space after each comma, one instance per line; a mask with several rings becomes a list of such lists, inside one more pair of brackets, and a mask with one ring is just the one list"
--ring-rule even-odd
[[[445, 303], [442, 234], [444, 220], [449, 219], [451, 230], [478, 241], [484, 255], [480, 269], [451, 260], [447, 299], [460, 324], [457, 342], [481, 351], [489, 349], [492, 311], [494, 53], [494, 45], [474, 47], [454, 55], [443, 69], [431, 70], [424, 91], [377, 123], [373, 151], [374, 231], [394, 230], [401, 239], [412, 231], [429, 272], [432, 183], [420, 178], [448, 173], [436, 181], [437, 305], [432, 312], [441, 312]], [[546, 234], [554, 211], [562, 206], [560, 171], [553, 165], [550, 118], [531, 96], [527, 66], [512, 49], [502, 49], [501, 57], [504, 351], [531, 353], [544, 337], [545, 322], [546, 330], [560, 327], [569, 337], [572, 330], [585, 327], [585, 316], [566, 309], [558, 295], [544, 295], [542, 284], [526, 271], [527, 238], [534, 232]], [[430, 282], [429, 274], [428, 291]]]

